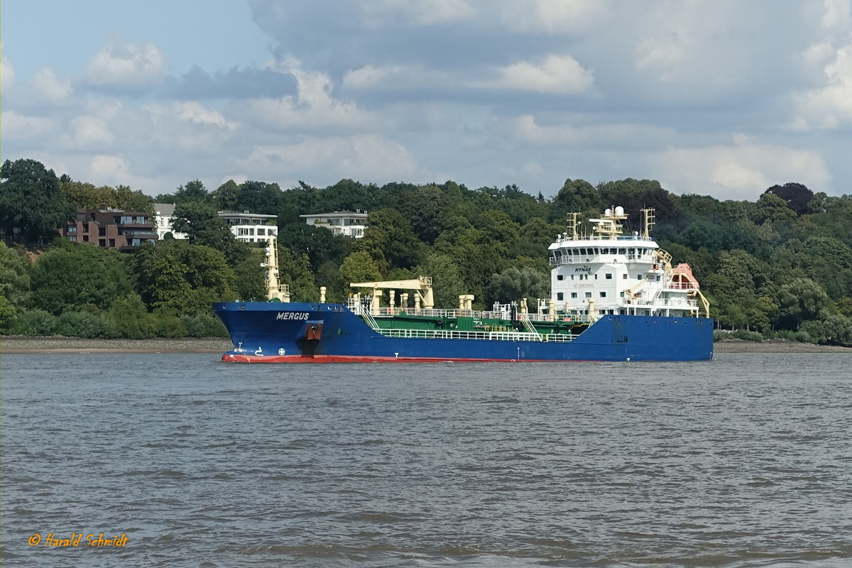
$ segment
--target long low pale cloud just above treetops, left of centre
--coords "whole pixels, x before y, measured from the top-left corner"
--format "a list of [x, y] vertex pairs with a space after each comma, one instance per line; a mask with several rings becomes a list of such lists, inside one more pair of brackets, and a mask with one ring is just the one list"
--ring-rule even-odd
[[245, 165], [250, 171], [261, 169], [278, 175], [322, 169], [334, 179], [360, 181], [406, 179], [417, 172], [417, 161], [404, 146], [379, 135], [308, 138], [296, 144], [256, 146]]

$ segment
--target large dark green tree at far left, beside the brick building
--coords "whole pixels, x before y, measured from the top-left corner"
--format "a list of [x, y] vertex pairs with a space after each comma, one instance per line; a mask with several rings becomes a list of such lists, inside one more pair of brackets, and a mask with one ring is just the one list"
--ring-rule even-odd
[[59, 236], [60, 227], [75, 213], [62, 203], [53, 169], [40, 162], [6, 160], [0, 168], [0, 224], [12, 242], [41, 246]]

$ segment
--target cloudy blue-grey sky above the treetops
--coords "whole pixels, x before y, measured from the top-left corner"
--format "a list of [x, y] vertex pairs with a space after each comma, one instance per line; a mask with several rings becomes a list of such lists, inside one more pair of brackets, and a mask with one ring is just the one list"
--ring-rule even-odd
[[199, 179], [852, 193], [852, 0], [6, 0], [2, 159]]

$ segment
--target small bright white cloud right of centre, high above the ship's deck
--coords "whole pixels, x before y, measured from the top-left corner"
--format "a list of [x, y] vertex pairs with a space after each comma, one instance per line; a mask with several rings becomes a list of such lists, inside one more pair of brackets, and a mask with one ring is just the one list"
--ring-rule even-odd
[[511, 89], [573, 95], [582, 93], [595, 83], [592, 72], [586, 70], [571, 55], [548, 55], [538, 63], [519, 61], [498, 69], [500, 78], [479, 83], [491, 89]]

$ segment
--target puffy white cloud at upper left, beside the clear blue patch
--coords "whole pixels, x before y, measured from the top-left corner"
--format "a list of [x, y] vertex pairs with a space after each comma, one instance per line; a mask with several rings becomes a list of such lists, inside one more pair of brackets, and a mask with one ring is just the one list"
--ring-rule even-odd
[[153, 43], [111, 44], [89, 60], [83, 77], [98, 87], [141, 87], [161, 81], [165, 66], [163, 51]]

